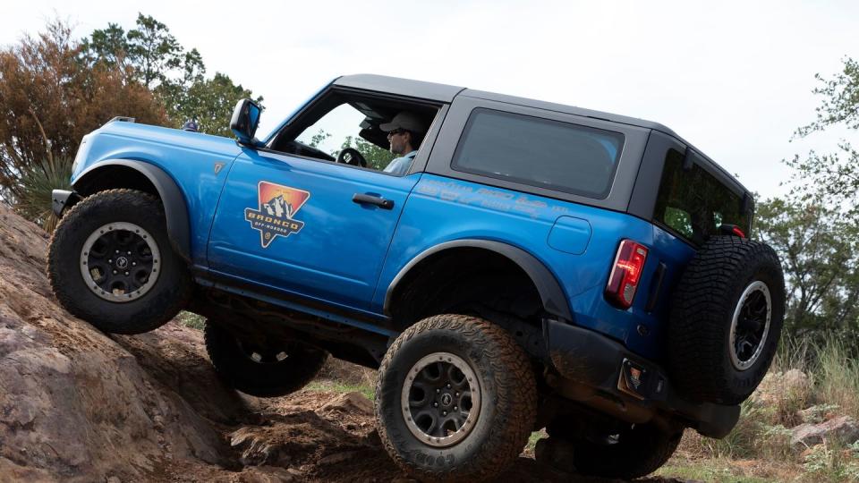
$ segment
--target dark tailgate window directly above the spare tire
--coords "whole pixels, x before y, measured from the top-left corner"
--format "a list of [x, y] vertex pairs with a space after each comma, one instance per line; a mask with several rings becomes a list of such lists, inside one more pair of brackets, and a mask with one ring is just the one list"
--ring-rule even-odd
[[654, 217], [693, 244], [701, 245], [719, 225], [737, 225], [748, 233], [751, 214], [743, 198], [700, 165], [683, 169], [683, 153], [668, 149]]

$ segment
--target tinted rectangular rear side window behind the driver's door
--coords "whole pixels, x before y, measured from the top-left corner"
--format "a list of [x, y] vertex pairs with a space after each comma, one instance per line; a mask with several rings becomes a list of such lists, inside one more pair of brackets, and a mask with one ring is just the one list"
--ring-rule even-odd
[[523, 114], [475, 109], [451, 167], [508, 182], [605, 199], [624, 135]]

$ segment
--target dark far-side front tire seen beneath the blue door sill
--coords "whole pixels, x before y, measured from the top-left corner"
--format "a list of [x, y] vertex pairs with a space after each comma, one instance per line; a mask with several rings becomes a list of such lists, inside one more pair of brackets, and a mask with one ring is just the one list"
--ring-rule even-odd
[[208, 359], [235, 390], [257, 397], [292, 394], [307, 386], [325, 364], [328, 353], [298, 341], [274, 350], [252, 348], [223, 326], [206, 321]]

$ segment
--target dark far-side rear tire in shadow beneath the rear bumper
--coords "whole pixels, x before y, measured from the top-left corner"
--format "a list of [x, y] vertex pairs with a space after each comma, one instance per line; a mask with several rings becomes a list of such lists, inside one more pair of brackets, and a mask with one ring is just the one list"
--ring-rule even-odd
[[683, 431], [668, 434], [655, 426], [638, 424], [617, 434], [617, 440], [611, 444], [580, 439], [573, 443], [573, 465], [583, 475], [640, 478], [668, 462], [682, 436]]

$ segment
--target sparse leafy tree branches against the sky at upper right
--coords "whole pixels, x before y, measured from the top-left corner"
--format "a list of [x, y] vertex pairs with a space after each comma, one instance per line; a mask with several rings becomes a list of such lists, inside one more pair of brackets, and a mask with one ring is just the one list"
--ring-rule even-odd
[[[796, 137], [806, 137], [830, 126], [841, 125], [850, 131], [859, 130], [859, 63], [844, 59], [844, 69], [831, 79], [820, 74], [815, 78], [821, 87], [813, 90], [823, 97], [816, 109], [817, 118], [795, 131]], [[844, 208], [859, 224], [859, 152], [849, 140], [838, 144], [838, 151], [820, 155], [814, 151], [807, 157], [794, 157], [786, 164], [795, 168], [794, 193], [804, 200], [818, 199], [831, 206]]]

